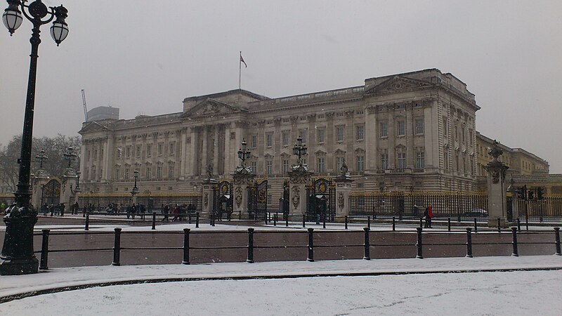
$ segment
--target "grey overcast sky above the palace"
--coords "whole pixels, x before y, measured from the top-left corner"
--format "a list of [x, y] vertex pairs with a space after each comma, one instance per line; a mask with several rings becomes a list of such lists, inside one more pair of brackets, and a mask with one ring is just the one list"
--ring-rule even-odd
[[[77, 135], [89, 109], [181, 112], [238, 86], [270, 98], [451, 72], [482, 107], [477, 130], [562, 173], [562, 1], [60, 1], [70, 34], [42, 30], [34, 136]], [[7, 6], [6, 1], [1, 1]], [[1, 7], [4, 10], [4, 7]], [[4, 27], [1, 27], [4, 29]], [[31, 24], [0, 29], [0, 143], [22, 132]]]

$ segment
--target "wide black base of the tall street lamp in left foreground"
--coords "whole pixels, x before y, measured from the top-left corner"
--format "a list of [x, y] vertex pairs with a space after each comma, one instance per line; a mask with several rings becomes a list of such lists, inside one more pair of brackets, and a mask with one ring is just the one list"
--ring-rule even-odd
[[39, 272], [39, 261], [33, 253], [33, 228], [37, 211], [33, 206], [15, 204], [4, 216], [6, 236], [0, 255], [0, 275], [29, 275]]

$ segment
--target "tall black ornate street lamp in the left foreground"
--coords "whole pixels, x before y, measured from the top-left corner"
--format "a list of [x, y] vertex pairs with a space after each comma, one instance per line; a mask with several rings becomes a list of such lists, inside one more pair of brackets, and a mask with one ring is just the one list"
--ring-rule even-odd
[[33, 24], [18, 189], [14, 193], [15, 204], [8, 208], [8, 213], [4, 216], [6, 237], [4, 237], [4, 246], [0, 255], [0, 275], [25, 275], [37, 273], [39, 268], [39, 262], [33, 253], [33, 227], [37, 223], [37, 210], [30, 204], [35, 78], [39, 44], [41, 43], [39, 27], [56, 18], [51, 26], [51, 37], [57, 45], [60, 44], [68, 35], [68, 26], [65, 22], [68, 11], [63, 6], [47, 8], [41, 0], [35, 0], [29, 5], [26, 4], [27, 0], [6, 0], [6, 2], [8, 2], [8, 8], [2, 14], [2, 22], [8, 28], [10, 35], [22, 24], [22, 15]]

